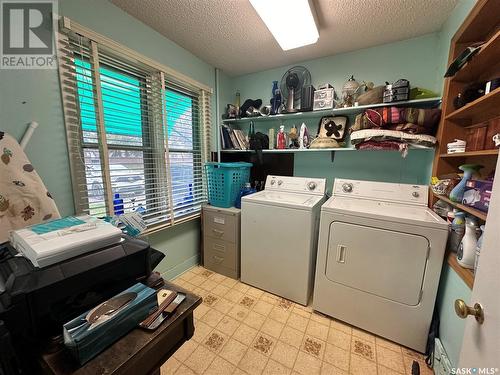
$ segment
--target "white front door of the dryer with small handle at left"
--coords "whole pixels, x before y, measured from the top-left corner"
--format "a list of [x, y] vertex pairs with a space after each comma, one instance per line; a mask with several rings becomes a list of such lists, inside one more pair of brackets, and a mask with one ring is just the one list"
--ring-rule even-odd
[[326, 277], [366, 293], [419, 303], [429, 241], [422, 236], [358, 224], [330, 225]]

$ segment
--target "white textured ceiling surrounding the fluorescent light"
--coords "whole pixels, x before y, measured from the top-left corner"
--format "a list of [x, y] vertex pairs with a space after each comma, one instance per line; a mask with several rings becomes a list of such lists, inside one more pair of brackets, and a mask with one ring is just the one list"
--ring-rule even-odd
[[314, 0], [318, 42], [283, 51], [248, 0], [111, 1], [231, 76], [432, 33], [458, 2]]

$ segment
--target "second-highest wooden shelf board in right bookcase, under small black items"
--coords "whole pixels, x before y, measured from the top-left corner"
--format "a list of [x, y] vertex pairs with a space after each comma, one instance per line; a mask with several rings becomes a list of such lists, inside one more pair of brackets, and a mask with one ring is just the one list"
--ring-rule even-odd
[[500, 115], [500, 87], [446, 116], [447, 120], [468, 120], [474, 123]]

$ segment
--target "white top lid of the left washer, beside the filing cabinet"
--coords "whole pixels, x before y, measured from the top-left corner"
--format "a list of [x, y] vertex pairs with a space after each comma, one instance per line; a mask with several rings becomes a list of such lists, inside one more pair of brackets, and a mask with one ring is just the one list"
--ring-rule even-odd
[[241, 198], [241, 201], [246, 203], [260, 203], [303, 210], [311, 210], [322, 200], [323, 196], [269, 190], [262, 190]]

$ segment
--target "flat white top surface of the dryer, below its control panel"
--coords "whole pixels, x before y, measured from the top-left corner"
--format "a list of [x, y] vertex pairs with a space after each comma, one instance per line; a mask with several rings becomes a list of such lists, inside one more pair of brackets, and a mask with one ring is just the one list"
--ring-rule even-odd
[[401, 203], [332, 197], [321, 207], [321, 211], [448, 229], [446, 221], [428, 207]]

